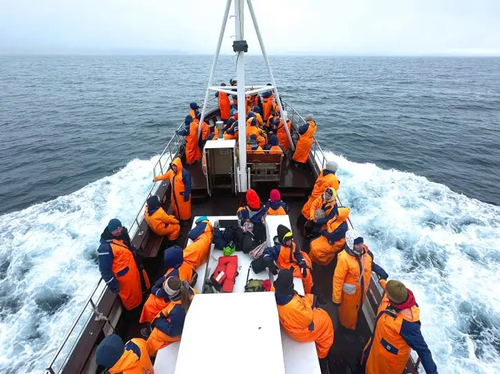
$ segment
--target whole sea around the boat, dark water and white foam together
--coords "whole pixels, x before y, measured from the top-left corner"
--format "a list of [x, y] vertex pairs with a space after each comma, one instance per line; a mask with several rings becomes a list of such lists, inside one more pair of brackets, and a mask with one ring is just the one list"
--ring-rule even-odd
[[[439, 373], [500, 373], [500, 59], [271, 56]], [[212, 56], [0, 56], [0, 373], [43, 373]], [[235, 77], [221, 56], [215, 82]], [[269, 83], [247, 56], [247, 84]]]

